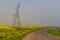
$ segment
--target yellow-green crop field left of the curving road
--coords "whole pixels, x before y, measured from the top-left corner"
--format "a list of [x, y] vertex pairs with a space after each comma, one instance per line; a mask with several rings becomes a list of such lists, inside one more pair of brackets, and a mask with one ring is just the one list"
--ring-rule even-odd
[[11, 26], [0, 26], [0, 40], [22, 40], [27, 34], [40, 30], [42, 27], [11, 27]]

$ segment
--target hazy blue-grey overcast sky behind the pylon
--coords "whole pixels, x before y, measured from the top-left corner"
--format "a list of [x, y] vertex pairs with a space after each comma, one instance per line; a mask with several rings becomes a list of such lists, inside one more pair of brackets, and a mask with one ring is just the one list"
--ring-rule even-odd
[[[60, 26], [60, 0], [20, 0], [21, 25]], [[17, 0], [0, 0], [0, 25], [12, 25]]]

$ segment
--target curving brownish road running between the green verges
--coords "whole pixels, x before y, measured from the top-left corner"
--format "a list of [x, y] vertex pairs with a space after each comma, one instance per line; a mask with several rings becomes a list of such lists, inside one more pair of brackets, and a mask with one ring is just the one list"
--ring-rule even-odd
[[39, 30], [27, 35], [23, 40], [60, 40], [60, 38], [48, 35], [46, 29]]

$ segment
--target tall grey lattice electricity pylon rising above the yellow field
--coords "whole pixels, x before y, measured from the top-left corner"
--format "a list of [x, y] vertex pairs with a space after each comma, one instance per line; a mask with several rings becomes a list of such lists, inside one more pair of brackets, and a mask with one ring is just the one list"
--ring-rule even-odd
[[20, 26], [20, 15], [19, 15], [20, 3], [16, 7], [16, 13], [13, 14], [13, 26]]

